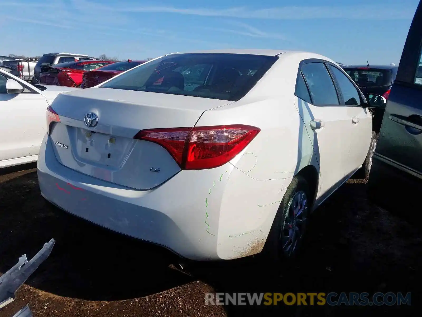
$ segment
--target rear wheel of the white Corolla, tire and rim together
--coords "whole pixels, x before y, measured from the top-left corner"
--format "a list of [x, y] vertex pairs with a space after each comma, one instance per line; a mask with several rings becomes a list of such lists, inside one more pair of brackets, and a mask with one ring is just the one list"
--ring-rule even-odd
[[292, 259], [298, 254], [311, 211], [309, 199], [305, 178], [295, 176], [287, 187], [265, 244], [265, 253], [272, 262]]

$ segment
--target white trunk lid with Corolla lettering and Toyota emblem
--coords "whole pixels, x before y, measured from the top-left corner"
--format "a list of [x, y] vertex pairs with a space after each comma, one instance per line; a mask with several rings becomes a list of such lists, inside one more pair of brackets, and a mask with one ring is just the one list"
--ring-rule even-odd
[[[163, 147], [133, 139], [135, 134], [148, 128], [195, 126], [205, 110], [231, 102], [110, 88], [73, 91], [57, 96], [52, 104], [61, 122], [54, 123], [50, 137], [64, 166], [146, 190], [168, 180], [180, 167]], [[93, 127], [84, 122], [88, 113], [98, 118]]]

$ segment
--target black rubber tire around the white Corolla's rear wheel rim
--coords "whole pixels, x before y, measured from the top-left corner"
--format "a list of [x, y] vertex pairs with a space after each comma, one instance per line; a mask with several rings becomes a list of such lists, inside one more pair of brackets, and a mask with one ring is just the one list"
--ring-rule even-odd
[[[303, 230], [300, 231], [301, 235], [294, 250], [291, 254], [288, 254], [283, 248], [281, 234], [284, 230], [284, 232], [289, 230], [285, 222], [288, 216], [290, 202], [292, 201], [293, 197], [295, 197], [295, 195], [300, 192], [305, 193], [307, 197], [305, 206], [306, 214], [304, 215], [306, 221], [303, 223]], [[286, 193], [281, 200], [281, 204], [277, 210], [276, 216], [274, 217], [273, 225], [264, 246], [264, 255], [268, 260], [270, 260], [272, 264], [278, 265], [281, 261], [292, 260], [297, 256], [300, 249], [300, 243], [303, 240], [303, 234], [306, 231], [307, 220], [309, 219], [309, 215], [311, 213], [311, 203], [309, 201], [311, 197], [313, 197], [313, 195], [310, 194], [309, 185], [306, 179], [300, 175], [293, 177], [292, 182], [290, 183], [289, 187], [287, 187]]]

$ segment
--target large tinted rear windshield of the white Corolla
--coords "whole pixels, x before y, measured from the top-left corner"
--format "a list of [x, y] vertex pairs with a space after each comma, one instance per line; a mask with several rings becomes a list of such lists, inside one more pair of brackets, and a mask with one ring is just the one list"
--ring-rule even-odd
[[174, 54], [145, 63], [100, 87], [237, 101], [277, 59], [248, 54]]

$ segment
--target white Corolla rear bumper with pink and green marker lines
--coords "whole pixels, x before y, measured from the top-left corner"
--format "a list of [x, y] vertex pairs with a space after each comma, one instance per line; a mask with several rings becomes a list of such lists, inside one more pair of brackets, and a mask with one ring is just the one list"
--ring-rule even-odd
[[[155, 189], [141, 191], [63, 166], [46, 136], [37, 167], [41, 193], [54, 205], [190, 260], [233, 259], [259, 252], [278, 208], [270, 204], [244, 210], [249, 204], [244, 200], [251, 199], [252, 192], [268, 192], [268, 188], [230, 163], [215, 169], [184, 170]], [[252, 187], [242, 193], [238, 191], [242, 185]]]

